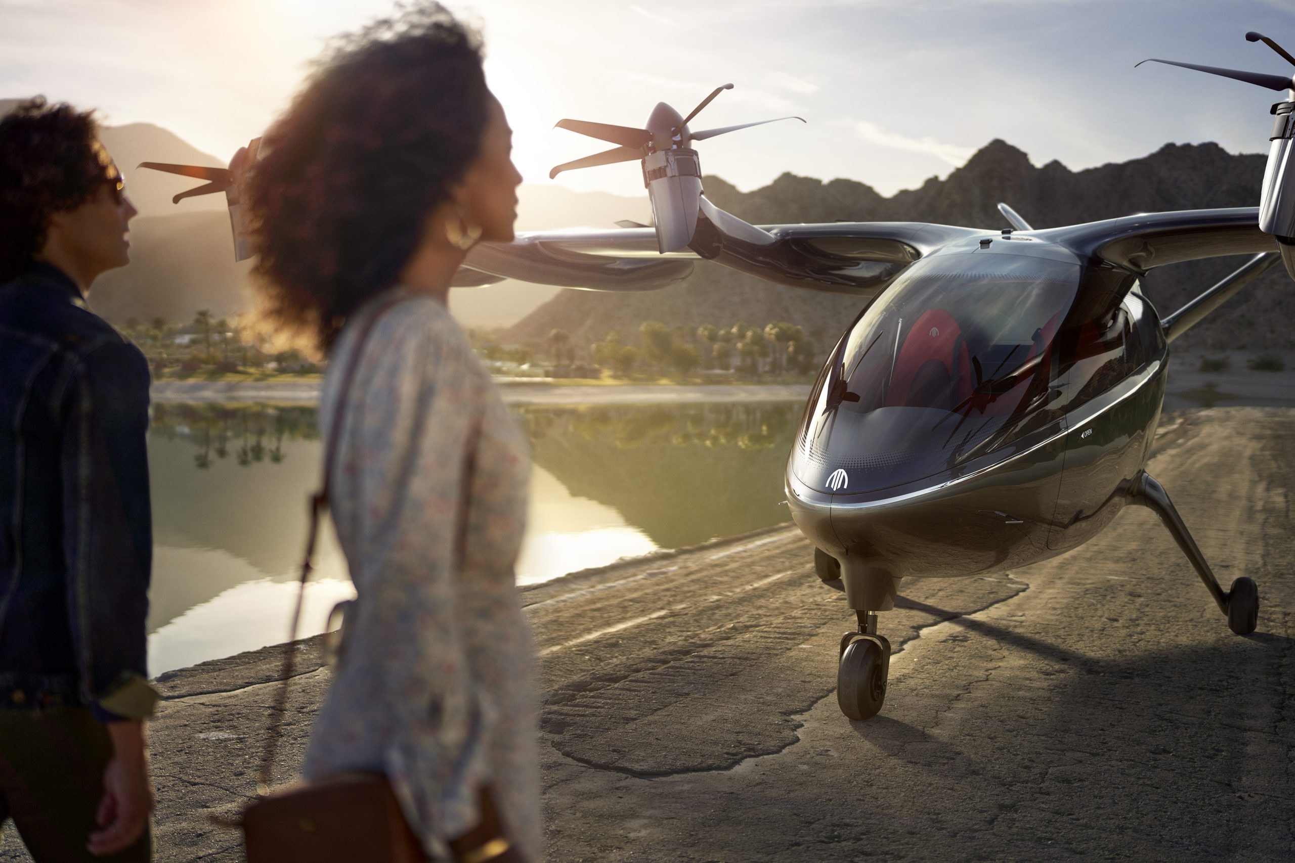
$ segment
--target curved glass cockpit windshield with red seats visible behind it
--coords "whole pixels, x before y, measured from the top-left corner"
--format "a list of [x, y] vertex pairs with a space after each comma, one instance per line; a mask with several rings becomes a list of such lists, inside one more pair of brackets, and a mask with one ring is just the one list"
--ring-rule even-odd
[[914, 263], [824, 369], [793, 459], [798, 476], [838, 493], [890, 488], [1055, 419], [1053, 382], [1064, 367], [1053, 344], [1080, 270], [975, 252]]

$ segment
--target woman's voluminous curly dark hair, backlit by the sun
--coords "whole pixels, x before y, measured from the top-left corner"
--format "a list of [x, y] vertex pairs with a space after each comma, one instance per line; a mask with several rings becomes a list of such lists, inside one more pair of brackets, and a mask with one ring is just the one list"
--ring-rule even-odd
[[438, 3], [325, 53], [245, 188], [272, 326], [326, 353], [347, 316], [396, 283], [478, 154], [487, 92], [479, 36]]

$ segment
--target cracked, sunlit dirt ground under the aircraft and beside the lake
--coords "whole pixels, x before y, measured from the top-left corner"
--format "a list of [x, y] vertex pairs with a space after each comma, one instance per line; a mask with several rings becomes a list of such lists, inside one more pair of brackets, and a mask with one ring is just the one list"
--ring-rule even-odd
[[[1150, 472], [1242, 638], [1155, 516], [1062, 558], [908, 580], [881, 716], [837, 708], [852, 616], [774, 528], [523, 593], [541, 652], [550, 860], [1278, 860], [1295, 857], [1295, 411], [1163, 423]], [[299, 647], [281, 775], [328, 670]], [[159, 860], [238, 860], [273, 648], [161, 679]], [[23, 859], [6, 836], [0, 859]]]

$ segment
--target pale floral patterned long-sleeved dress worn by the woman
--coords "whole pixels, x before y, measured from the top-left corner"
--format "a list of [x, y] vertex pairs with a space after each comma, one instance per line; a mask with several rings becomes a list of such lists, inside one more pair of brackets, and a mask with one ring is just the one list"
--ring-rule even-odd
[[325, 433], [357, 325], [376, 313], [330, 477], [357, 598], [303, 772], [385, 772], [436, 859], [478, 823], [475, 792], [492, 783], [509, 838], [540, 860], [535, 648], [513, 573], [526, 437], [449, 311], [403, 289], [343, 331]]

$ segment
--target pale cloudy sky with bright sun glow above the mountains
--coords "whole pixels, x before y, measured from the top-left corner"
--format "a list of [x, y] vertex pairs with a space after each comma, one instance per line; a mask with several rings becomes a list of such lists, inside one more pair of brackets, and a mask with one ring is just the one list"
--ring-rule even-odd
[[[798, 114], [698, 142], [742, 190], [783, 171], [882, 194], [947, 176], [993, 138], [1083, 169], [1167, 142], [1267, 150], [1281, 93], [1147, 57], [1287, 75], [1295, 0], [471, 0], [515, 160], [546, 184], [609, 145], [553, 124], [640, 127], [658, 101], [702, 129]], [[166, 127], [228, 159], [291, 100], [328, 38], [391, 0], [0, 0], [0, 98], [44, 93], [110, 124]], [[575, 190], [644, 195], [633, 163], [572, 171]]]

